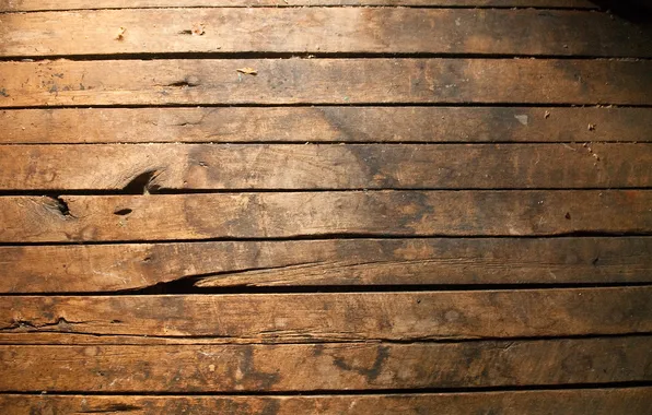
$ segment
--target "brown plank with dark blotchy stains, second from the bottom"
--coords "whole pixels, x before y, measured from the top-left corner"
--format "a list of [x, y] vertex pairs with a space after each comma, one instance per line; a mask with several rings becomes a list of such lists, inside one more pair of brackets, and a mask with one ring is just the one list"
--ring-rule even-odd
[[652, 380], [652, 337], [416, 344], [0, 346], [0, 391], [231, 392]]

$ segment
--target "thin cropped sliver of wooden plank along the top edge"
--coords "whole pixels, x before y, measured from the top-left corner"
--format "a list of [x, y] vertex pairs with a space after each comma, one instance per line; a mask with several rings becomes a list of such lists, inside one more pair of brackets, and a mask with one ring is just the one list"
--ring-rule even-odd
[[0, 11], [75, 9], [133, 9], [165, 7], [296, 7], [296, 5], [404, 5], [596, 9], [587, 0], [1, 0]]

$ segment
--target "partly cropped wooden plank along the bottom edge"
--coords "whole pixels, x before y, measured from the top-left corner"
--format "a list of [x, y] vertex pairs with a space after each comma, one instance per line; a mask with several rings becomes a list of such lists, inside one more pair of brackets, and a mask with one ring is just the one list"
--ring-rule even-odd
[[652, 388], [316, 396], [0, 394], [5, 414], [409, 414], [648, 415]]

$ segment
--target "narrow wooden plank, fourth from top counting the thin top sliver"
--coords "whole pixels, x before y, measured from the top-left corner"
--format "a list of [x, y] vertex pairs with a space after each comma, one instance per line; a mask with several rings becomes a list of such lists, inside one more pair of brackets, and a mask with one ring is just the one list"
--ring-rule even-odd
[[618, 107], [5, 109], [0, 143], [651, 142], [651, 118]]

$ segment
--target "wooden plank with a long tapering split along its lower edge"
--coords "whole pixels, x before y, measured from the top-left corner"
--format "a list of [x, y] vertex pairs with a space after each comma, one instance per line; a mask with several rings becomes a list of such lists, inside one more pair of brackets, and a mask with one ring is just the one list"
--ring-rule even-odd
[[432, 238], [0, 247], [0, 293], [652, 282], [652, 238]]

